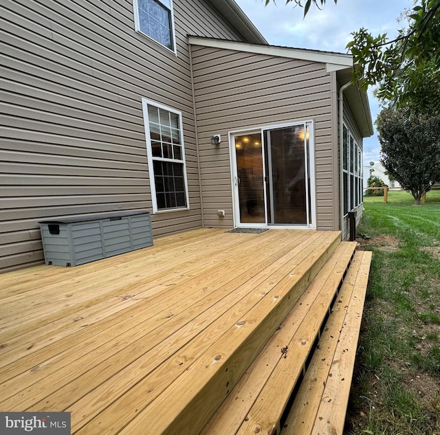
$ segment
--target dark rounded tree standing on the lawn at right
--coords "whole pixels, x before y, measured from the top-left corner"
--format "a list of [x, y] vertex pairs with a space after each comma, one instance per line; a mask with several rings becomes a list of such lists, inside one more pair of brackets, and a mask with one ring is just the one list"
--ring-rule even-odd
[[440, 179], [440, 115], [383, 109], [376, 120], [380, 161], [417, 205]]

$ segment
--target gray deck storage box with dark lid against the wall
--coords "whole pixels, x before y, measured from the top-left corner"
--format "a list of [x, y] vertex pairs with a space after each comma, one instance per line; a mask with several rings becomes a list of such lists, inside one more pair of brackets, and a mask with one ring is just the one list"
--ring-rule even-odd
[[40, 222], [47, 265], [78, 266], [153, 245], [149, 212]]

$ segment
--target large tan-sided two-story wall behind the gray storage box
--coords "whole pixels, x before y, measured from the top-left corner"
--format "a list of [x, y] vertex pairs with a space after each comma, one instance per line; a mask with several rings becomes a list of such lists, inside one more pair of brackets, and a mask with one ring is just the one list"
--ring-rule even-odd
[[1, 2], [1, 270], [43, 263], [41, 220], [151, 210], [142, 97], [184, 120], [190, 210], [153, 234], [201, 226], [187, 35], [241, 36], [210, 3], [173, 3], [177, 56], [135, 32], [131, 1]]

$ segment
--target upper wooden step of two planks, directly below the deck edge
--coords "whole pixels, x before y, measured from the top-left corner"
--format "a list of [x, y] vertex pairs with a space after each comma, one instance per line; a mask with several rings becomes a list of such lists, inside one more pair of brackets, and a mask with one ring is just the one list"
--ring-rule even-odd
[[355, 246], [340, 243], [203, 435], [279, 433], [281, 416], [342, 285]]

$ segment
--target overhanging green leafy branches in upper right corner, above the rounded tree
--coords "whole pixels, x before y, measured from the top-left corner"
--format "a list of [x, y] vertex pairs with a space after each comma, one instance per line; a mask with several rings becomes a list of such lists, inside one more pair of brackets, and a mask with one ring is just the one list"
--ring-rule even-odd
[[395, 107], [428, 113], [440, 103], [440, 1], [417, 1], [406, 19], [408, 27], [393, 40], [364, 28], [353, 33], [347, 45], [357, 64], [353, 81], [364, 89], [378, 85], [377, 98]]

